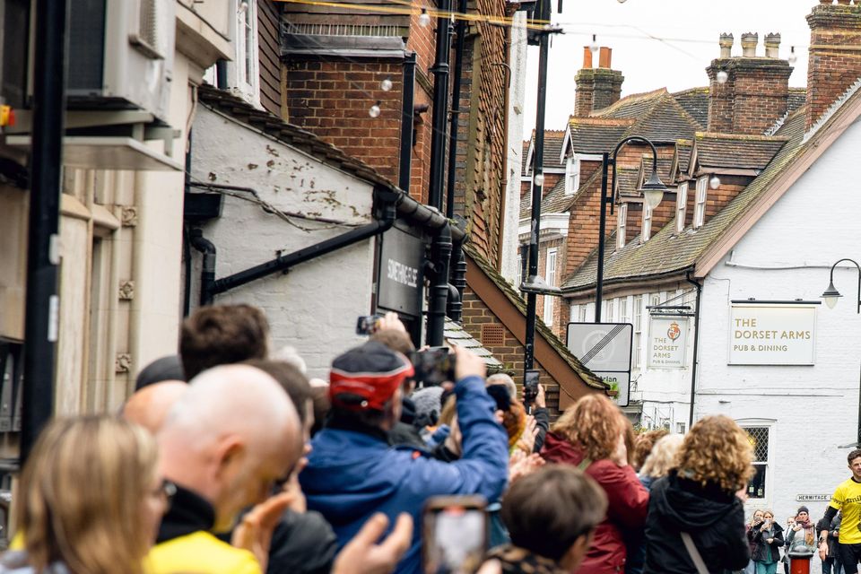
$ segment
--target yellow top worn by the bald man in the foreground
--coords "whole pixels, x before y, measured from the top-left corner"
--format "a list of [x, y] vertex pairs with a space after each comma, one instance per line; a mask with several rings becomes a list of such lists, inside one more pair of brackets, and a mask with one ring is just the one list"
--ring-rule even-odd
[[156, 544], [143, 564], [147, 574], [262, 574], [254, 554], [204, 531]]

